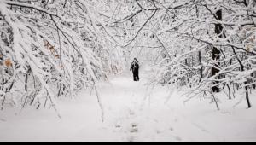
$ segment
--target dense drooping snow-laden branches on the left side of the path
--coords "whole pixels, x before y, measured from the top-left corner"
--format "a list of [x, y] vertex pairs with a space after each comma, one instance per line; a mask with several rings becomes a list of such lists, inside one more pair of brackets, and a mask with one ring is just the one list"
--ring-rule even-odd
[[119, 73], [122, 51], [95, 1], [0, 1], [0, 102], [55, 107], [55, 96]]

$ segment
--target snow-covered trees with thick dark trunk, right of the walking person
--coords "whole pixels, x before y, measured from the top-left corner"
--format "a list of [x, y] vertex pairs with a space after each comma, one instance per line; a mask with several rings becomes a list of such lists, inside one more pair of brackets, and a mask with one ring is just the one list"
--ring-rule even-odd
[[[255, 88], [254, 0], [117, 1], [113, 27], [123, 47], [146, 47], [155, 58], [153, 83], [191, 89], [189, 97]], [[122, 32], [123, 31], [123, 32]], [[123, 34], [122, 34], [123, 33]], [[232, 88], [236, 88], [232, 90]]]

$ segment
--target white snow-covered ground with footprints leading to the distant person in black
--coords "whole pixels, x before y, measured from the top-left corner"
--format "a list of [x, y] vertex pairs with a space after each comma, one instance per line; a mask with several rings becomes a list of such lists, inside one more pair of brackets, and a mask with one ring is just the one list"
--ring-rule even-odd
[[53, 109], [5, 108], [0, 141], [256, 141], [255, 107], [234, 108], [232, 101], [217, 111], [209, 101], [184, 103], [181, 93], [148, 87], [147, 80], [123, 75], [99, 84], [104, 123], [94, 92], [58, 100], [62, 119]]

